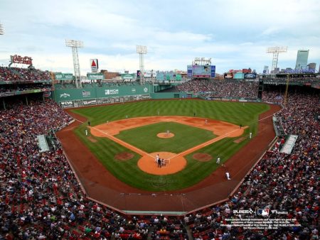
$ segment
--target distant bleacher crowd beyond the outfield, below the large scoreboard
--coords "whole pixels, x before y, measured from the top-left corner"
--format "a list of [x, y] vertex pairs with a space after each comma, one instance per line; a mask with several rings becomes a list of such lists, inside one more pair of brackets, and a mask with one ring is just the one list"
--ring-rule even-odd
[[190, 80], [177, 88], [180, 92], [196, 92], [203, 97], [256, 99], [258, 82], [227, 80]]

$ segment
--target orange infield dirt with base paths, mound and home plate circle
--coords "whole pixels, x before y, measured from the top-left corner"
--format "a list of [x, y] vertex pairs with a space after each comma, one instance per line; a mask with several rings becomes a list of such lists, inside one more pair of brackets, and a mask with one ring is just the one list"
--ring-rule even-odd
[[[189, 148], [188, 150], [181, 153], [170, 156], [168, 160], [171, 160], [172, 164], [170, 164], [167, 168], [161, 169], [154, 168], [154, 156], [152, 156], [150, 153], [145, 153], [144, 151], [142, 151], [142, 149], [139, 149], [129, 143], [120, 140], [119, 138], [114, 137], [114, 135], [118, 134], [120, 131], [137, 128], [139, 126], [156, 124], [158, 122], [176, 122], [178, 124], [197, 127], [199, 129], [206, 129], [208, 131], [212, 131], [213, 134], [217, 135], [218, 137], [206, 141], [205, 143], [201, 143], [198, 146], [193, 146], [192, 148]], [[154, 175], [168, 175], [178, 173], [178, 171], [181, 171], [186, 167], [186, 160], [183, 158], [184, 156], [197, 151], [198, 149], [204, 148], [212, 143], [215, 143], [216, 141], [220, 141], [223, 138], [241, 136], [246, 128], [247, 126], [240, 128], [240, 126], [230, 124], [225, 121], [203, 119], [191, 116], [144, 116], [132, 119], [112, 121], [110, 123], [108, 122], [107, 124], [100, 124], [97, 126], [90, 126], [90, 132], [93, 136], [110, 138], [112, 141], [116, 141], [122, 146], [142, 155], [142, 158], [138, 162], [138, 167], [144, 172]], [[159, 134], [161, 134], [161, 137], [163, 138], [174, 136], [168, 136], [166, 133]], [[159, 134], [157, 136], [159, 136]], [[164, 156], [161, 156], [161, 154], [160, 157], [164, 158]]]

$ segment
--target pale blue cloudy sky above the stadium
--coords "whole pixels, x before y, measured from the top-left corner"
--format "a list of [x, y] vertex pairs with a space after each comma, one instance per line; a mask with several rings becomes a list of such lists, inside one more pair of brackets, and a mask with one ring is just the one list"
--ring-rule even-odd
[[278, 67], [295, 67], [297, 50], [320, 64], [319, 0], [1, 0], [0, 65], [10, 55], [30, 56], [41, 70], [73, 72], [65, 39], [81, 40], [81, 75], [90, 59], [100, 70], [136, 72], [137, 45], [145, 70], [184, 70], [211, 58], [216, 72], [272, 66], [267, 48], [287, 46]]

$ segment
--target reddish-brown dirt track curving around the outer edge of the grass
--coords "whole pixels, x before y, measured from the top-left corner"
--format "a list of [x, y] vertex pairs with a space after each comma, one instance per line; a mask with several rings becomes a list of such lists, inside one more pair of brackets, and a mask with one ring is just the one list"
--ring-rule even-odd
[[[274, 138], [272, 114], [279, 109], [279, 106], [270, 104], [270, 110], [259, 117], [257, 135], [238, 153], [235, 153], [225, 163], [225, 167], [218, 168], [192, 187], [170, 192], [139, 190], [114, 178], [114, 175], [103, 167], [73, 132], [73, 129], [81, 124], [79, 121], [59, 131], [57, 136], [87, 196], [122, 211], [188, 212], [228, 198], [228, 195], [240, 184], [242, 178], [267, 150], [269, 143]], [[75, 119], [86, 121], [84, 117], [70, 110], [67, 111]], [[225, 179], [226, 169], [230, 173], [231, 180]]]

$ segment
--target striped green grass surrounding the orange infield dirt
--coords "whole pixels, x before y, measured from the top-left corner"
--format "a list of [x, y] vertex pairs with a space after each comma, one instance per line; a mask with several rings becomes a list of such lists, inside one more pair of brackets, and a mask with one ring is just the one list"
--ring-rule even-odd
[[[243, 136], [252, 132], [253, 136], [257, 131], [257, 119], [259, 114], [267, 111], [267, 104], [253, 104], [240, 102], [214, 102], [203, 100], [163, 100], [134, 102], [127, 104], [105, 105], [92, 108], [73, 109], [77, 114], [85, 116], [92, 126], [114, 121], [118, 119], [132, 118], [137, 116], [193, 116], [208, 119], [228, 121], [233, 124], [249, 126]], [[194, 153], [186, 156], [187, 167], [181, 172], [172, 175], [150, 175], [144, 173], [137, 167], [140, 156], [134, 153], [134, 158], [127, 161], [115, 160], [117, 153], [132, 152], [127, 148], [110, 141], [107, 138], [95, 138], [96, 143], [92, 143], [85, 137], [86, 124], [82, 124], [75, 130], [79, 138], [90, 148], [95, 156], [100, 159], [103, 165], [110, 170], [119, 180], [126, 182], [132, 187], [149, 191], [169, 191], [179, 190], [195, 185], [206, 178], [218, 167], [215, 158], [220, 156], [225, 162], [233, 156], [242, 146], [250, 141], [246, 138], [241, 143], [233, 143], [237, 138], [224, 138], [221, 141], [206, 146], [197, 152], [208, 153], [213, 156], [213, 160], [203, 163], [192, 158]], [[174, 131], [174, 130], [172, 130]], [[190, 136], [191, 138], [191, 136]], [[147, 143], [149, 140], [145, 139]]]

